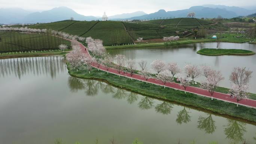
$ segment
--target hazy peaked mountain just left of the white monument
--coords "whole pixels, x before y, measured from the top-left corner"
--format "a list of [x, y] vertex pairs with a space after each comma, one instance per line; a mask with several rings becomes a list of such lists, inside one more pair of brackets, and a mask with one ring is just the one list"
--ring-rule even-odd
[[22, 23], [54, 22], [70, 19], [71, 17], [78, 21], [91, 21], [97, 19], [95, 16], [80, 15], [68, 7], [55, 7], [51, 10], [31, 13], [24, 17]]

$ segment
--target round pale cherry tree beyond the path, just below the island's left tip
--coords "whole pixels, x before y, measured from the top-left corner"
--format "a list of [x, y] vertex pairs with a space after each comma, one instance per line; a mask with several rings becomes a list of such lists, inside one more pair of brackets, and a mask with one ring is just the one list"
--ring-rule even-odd
[[192, 84], [194, 84], [194, 79], [199, 77], [201, 74], [201, 71], [197, 67], [197, 65], [191, 65], [191, 64], [186, 64], [185, 65], [185, 73], [191, 77], [192, 79]]

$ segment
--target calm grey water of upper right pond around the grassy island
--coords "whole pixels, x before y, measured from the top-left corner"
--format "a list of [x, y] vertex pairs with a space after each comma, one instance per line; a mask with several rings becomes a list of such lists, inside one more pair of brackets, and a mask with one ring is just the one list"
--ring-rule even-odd
[[[154, 59], [161, 59], [165, 62], [177, 62], [183, 68], [188, 64], [207, 64], [216, 70], [222, 71], [225, 80], [220, 83], [220, 86], [230, 88], [229, 75], [234, 67], [247, 67], [253, 71], [251, 80], [251, 92], [256, 93], [256, 55], [252, 56], [205, 56], [199, 55], [196, 52], [203, 48], [216, 48], [216, 43], [195, 43], [189, 45], [178, 45], [168, 47], [152, 47], [152, 48], [129, 48], [129, 49], [114, 49], [109, 50], [113, 56], [123, 54], [129, 59], [135, 59], [136, 62], [143, 60], [147, 61], [147, 67], [150, 68], [150, 63]], [[247, 49], [256, 52], [256, 45], [249, 43], [221, 43], [220, 48], [223, 49]], [[153, 70], [151, 70], [154, 72]], [[196, 80], [201, 81], [203, 77]]]

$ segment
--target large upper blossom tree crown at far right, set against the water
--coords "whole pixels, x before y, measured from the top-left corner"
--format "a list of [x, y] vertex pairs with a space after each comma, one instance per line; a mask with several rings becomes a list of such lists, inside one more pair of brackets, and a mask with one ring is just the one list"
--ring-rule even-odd
[[240, 68], [235, 67], [229, 76], [229, 80], [238, 85], [239, 87], [243, 85], [248, 85], [250, 79], [252, 78], [252, 71], [246, 70], [246, 67]]

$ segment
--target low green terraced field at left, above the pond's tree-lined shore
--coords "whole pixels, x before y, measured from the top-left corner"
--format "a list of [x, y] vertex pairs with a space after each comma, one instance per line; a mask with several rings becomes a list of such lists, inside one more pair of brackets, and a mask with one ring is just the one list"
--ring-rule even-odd
[[70, 42], [47, 34], [0, 32], [0, 52], [58, 49], [58, 45]]

